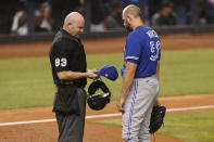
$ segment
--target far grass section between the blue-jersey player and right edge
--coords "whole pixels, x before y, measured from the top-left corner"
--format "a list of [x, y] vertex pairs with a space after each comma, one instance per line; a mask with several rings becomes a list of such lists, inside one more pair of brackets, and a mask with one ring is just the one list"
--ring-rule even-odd
[[164, 51], [161, 94], [186, 95], [214, 92], [214, 49]]

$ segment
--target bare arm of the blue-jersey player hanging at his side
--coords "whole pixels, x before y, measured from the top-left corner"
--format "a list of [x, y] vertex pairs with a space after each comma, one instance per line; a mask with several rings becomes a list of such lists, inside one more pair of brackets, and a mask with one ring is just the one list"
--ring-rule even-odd
[[125, 96], [130, 88], [130, 85], [134, 81], [136, 68], [137, 68], [137, 64], [131, 63], [131, 62], [127, 62], [126, 69], [124, 72], [124, 77], [123, 77], [121, 95], [119, 95], [119, 100], [117, 102], [117, 108], [119, 112], [124, 112], [123, 106], [124, 106], [124, 102], [125, 102]]

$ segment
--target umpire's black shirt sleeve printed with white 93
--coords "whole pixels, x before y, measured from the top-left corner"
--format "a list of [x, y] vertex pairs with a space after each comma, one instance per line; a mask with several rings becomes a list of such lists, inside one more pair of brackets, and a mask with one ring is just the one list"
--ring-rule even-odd
[[55, 72], [71, 70], [71, 65], [75, 62], [75, 52], [77, 52], [78, 43], [68, 38], [60, 39], [54, 47], [53, 64]]

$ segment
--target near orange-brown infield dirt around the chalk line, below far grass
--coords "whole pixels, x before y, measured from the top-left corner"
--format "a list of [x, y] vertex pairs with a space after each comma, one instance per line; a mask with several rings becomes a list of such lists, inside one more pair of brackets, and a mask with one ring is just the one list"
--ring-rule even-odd
[[[213, 105], [214, 94], [161, 98], [160, 102], [161, 104], [165, 105], [167, 109], [188, 106]], [[116, 102], [111, 102], [103, 111], [99, 112], [91, 111], [87, 107], [87, 116], [115, 114], [117, 113], [115, 104]], [[54, 115], [51, 109], [52, 106], [0, 111], [0, 122], [53, 119]], [[185, 112], [188, 113], [192, 111], [181, 111], [181, 113]], [[167, 114], [169, 115], [171, 113]], [[95, 121], [98, 120], [112, 118], [121, 118], [121, 116], [87, 119], [84, 142], [121, 142], [121, 127], [95, 124]], [[0, 142], [56, 142], [58, 127], [55, 121], [0, 126]], [[160, 134], [155, 135], [155, 141], [181, 142], [176, 138]]]

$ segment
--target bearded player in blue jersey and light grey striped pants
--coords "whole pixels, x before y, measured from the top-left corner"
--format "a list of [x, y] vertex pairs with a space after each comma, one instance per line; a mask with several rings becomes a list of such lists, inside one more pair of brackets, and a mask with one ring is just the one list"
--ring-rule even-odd
[[117, 102], [122, 137], [124, 142], [150, 142], [150, 117], [160, 86], [156, 75], [161, 43], [156, 33], [143, 24], [138, 7], [126, 7], [123, 20], [125, 28], [131, 31], [124, 49], [123, 85]]

